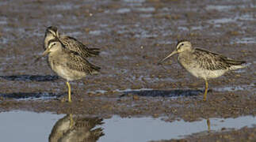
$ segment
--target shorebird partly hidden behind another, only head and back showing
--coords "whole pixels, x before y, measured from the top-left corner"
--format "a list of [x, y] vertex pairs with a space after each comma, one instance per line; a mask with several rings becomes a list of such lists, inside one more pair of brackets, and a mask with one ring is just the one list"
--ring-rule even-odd
[[50, 26], [46, 29], [44, 36], [44, 49], [48, 47], [49, 40], [55, 39], [56, 37], [67, 49], [77, 52], [82, 57], [94, 57], [100, 54], [99, 48], [86, 47], [86, 45], [71, 36], [59, 36], [58, 28], [54, 26]]

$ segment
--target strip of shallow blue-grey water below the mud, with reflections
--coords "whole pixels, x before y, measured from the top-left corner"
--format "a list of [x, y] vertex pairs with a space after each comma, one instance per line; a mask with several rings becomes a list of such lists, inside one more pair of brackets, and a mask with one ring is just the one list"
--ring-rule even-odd
[[[162, 121], [160, 118], [120, 118], [114, 115], [112, 118], [101, 120], [101, 118], [79, 116], [71, 114], [51, 114], [35, 113], [28, 111], [10, 111], [0, 113], [0, 133], [3, 141], [48, 141], [50, 136], [52, 140], [58, 137], [55, 132], [63, 131], [65, 127], [69, 128], [70, 117], [74, 119], [74, 124], [81, 121], [90, 128], [83, 128], [84, 125], [77, 129], [77, 132], [94, 134], [95, 131], [102, 133], [104, 136], [96, 136], [98, 141], [148, 141], [148, 140], [169, 140], [181, 138], [193, 133], [209, 133], [220, 131], [221, 129], [241, 129], [244, 126], [252, 126], [256, 118], [244, 116], [239, 118], [210, 118], [208, 127], [207, 120], [201, 121]], [[71, 127], [72, 128], [72, 127]], [[52, 129], [55, 129], [54, 131]], [[71, 131], [71, 130], [70, 130]], [[160, 132], [160, 133], [159, 133]], [[52, 134], [51, 134], [52, 133]], [[54, 137], [55, 136], [55, 137]], [[64, 134], [62, 137], [75, 136]], [[59, 136], [61, 137], [61, 136]], [[93, 136], [95, 138], [95, 136]], [[74, 138], [74, 137], [73, 137]], [[91, 137], [89, 136], [87, 140]]]

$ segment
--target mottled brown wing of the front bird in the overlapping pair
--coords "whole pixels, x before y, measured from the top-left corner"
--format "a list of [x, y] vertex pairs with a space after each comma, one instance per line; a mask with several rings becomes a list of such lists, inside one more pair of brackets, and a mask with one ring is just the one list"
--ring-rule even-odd
[[68, 57], [67, 66], [70, 69], [77, 70], [79, 72], [85, 72], [89, 74], [96, 74], [100, 71], [100, 67], [91, 64], [86, 60], [86, 58], [82, 58], [77, 52], [63, 49]]

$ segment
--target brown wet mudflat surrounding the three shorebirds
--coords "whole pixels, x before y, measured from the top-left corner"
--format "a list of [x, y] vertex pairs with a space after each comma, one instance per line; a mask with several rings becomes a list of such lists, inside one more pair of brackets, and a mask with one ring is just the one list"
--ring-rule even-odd
[[[255, 116], [255, 6], [250, 0], [0, 2], [0, 111], [166, 121]], [[101, 74], [71, 82], [73, 103], [67, 103], [65, 80], [52, 72], [47, 59], [35, 62], [51, 25], [60, 34], [101, 49], [100, 57], [89, 59], [101, 66]], [[177, 56], [157, 65], [179, 39], [244, 60], [246, 68], [209, 80], [211, 90], [204, 102], [204, 80], [183, 69]], [[243, 131], [239, 136], [245, 137], [254, 130], [231, 133]]]

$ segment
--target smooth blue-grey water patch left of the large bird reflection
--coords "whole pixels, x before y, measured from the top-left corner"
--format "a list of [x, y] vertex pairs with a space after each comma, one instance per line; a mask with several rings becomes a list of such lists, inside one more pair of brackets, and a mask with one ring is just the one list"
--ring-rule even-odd
[[1, 141], [47, 141], [52, 126], [63, 114], [28, 111], [12, 111], [0, 113]]

